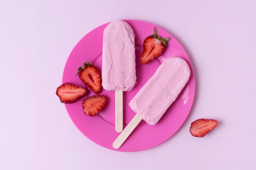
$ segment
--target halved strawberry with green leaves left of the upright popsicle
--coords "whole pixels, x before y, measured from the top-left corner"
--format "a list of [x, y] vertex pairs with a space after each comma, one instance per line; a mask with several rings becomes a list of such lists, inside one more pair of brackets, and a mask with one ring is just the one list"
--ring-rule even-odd
[[[99, 94], [102, 91], [102, 80], [99, 73], [99, 69], [92, 66], [92, 63], [85, 62], [83, 67], [78, 68], [79, 79], [88, 86], [95, 94]], [[76, 74], [76, 75], [77, 75]]]

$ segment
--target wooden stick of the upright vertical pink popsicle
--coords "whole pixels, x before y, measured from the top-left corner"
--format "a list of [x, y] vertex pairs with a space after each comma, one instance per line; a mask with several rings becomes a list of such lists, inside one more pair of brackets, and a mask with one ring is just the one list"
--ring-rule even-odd
[[115, 129], [123, 131], [123, 91], [115, 91]]

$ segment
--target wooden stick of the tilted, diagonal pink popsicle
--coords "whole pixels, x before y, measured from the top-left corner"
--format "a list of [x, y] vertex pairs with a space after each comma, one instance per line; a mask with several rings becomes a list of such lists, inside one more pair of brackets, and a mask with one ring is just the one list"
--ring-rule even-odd
[[136, 114], [135, 117], [132, 118], [130, 123], [126, 126], [126, 128], [121, 132], [121, 134], [117, 137], [117, 139], [113, 142], [113, 148], [118, 149], [124, 143], [124, 141], [128, 138], [131, 132], [136, 128], [136, 126], [141, 121], [142, 117], [139, 114]]

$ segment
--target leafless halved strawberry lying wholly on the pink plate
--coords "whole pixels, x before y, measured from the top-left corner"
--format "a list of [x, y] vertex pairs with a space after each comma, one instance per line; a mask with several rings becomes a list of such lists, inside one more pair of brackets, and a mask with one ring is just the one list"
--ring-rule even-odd
[[90, 96], [83, 100], [83, 112], [88, 116], [95, 116], [100, 113], [106, 105], [107, 97], [104, 95]]

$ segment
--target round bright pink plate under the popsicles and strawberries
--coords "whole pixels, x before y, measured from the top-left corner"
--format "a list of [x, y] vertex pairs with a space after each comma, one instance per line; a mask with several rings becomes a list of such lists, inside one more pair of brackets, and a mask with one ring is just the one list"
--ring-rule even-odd
[[[139, 20], [124, 20], [134, 30], [136, 44], [136, 76], [137, 84], [128, 92], [124, 92], [124, 127], [135, 116], [135, 113], [130, 109], [128, 103], [139, 89], [148, 81], [149, 77], [155, 73], [155, 70], [168, 57], [181, 57], [189, 64], [191, 69], [191, 77], [189, 82], [184, 87], [176, 101], [168, 108], [166, 113], [155, 126], [146, 124], [141, 121], [137, 128], [132, 132], [130, 137], [124, 142], [119, 149], [112, 147], [113, 141], [119, 133], [115, 131], [115, 92], [102, 91], [102, 95], [108, 97], [108, 103], [102, 112], [94, 117], [87, 116], [83, 113], [82, 101], [65, 104], [70, 118], [76, 127], [94, 143], [105, 148], [124, 152], [134, 152], [145, 150], [161, 144], [166, 139], [171, 137], [183, 124], [193, 104], [195, 94], [195, 78], [193, 68], [188, 55], [182, 48], [180, 43], [164, 29]], [[87, 60], [93, 62], [101, 71], [102, 43], [103, 30], [108, 23], [103, 24], [90, 33], [85, 35], [74, 47], [70, 56], [67, 59], [62, 82], [70, 82], [77, 86], [84, 87], [85, 85], [79, 80], [77, 68], [82, 66]], [[139, 57], [142, 53], [142, 44], [144, 39], [154, 32], [154, 27], [157, 27], [160, 36], [169, 37], [168, 47], [166, 51], [157, 60], [153, 60], [146, 65], [139, 64]], [[95, 95], [92, 91], [87, 96]], [[153, 96], [152, 96], [153, 97]]]

